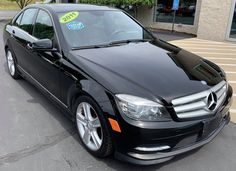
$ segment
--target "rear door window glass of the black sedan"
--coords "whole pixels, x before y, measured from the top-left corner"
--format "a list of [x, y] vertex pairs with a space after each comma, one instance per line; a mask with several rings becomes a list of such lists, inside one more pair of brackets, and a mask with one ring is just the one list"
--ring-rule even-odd
[[26, 31], [27, 33], [31, 34], [32, 27], [34, 23], [34, 16], [37, 12], [37, 9], [27, 9], [25, 10], [23, 17], [21, 19], [19, 27]]

